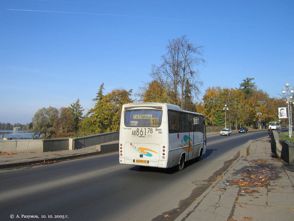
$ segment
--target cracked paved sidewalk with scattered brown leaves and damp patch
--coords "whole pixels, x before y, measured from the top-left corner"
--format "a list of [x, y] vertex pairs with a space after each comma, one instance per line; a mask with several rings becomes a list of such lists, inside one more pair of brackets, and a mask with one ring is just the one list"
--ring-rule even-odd
[[294, 166], [272, 157], [270, 138], [253, 141], [176, 221], [294, 219]]

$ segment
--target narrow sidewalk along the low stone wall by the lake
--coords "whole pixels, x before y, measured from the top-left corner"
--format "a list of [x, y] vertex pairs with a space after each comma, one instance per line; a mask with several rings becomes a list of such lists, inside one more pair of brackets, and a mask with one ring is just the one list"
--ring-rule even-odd
[[25, 166], [30, 164], [48, 164], [59, 160], [67, 160], [83, 156], [93, 156], [100, 153], [101, 151], [98, 151], [96, 146], [93, 146], [78, 150], [63, 150], [15, 155], [0, 154], [0, 169], [14, 166]]

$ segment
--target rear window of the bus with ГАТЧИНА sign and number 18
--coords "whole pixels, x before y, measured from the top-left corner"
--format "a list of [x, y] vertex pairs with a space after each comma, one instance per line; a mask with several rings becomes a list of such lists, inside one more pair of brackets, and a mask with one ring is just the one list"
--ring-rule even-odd
[[127, 127], [159, 127], [161, 119], [161, 110], [126, 110], [124, 120]]

